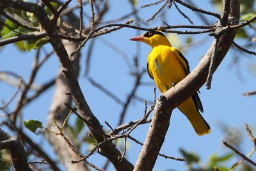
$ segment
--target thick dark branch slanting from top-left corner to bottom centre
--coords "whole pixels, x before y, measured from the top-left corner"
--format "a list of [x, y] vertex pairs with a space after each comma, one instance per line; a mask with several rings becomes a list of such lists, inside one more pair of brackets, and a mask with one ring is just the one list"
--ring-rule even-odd
[[[97, 130], [95, 130], [92, 126], [88, 125], [88, 128], [92, 132], [96, 142], [103, 142], [105, 140], [105, 137], [103, 136], [104, 131], [102, 130], [101, 124], [99, 123], [95, 115], [93, 115], [90, 107], [84, 99], [84, 95], [77, 81], [72, 62], [68, 58], [67, 51], [63, 43], [61, 42], [60, 36], [58, 36], [56, 30], [52, 29], [51, 20], [49, 20], [49, 18], [47, 17], [44, 8], [38, 6], [37, 4], [26, 3], [16, 0], [0, 0], [0, 4], [1, 3], [4, 3], [9, 7], [17, 8], [19, 10], [30, 11], [36, 15], [38, 22], [40, 22], [41, 26], [45, 30], [45, 33], [47, 34], [47, 40], [51, 43], [52, 48], [54, 49], [56, 56], [60, 61], [63, 75], [67, 82], [68, 89], [72, 94], [72, 98], [76, 103], [77, 110], [83, 116], [83, 118], [86, 119], [86, 121], [91, 123], [93, 127], [98, 128]], [[106, 156], [106, 158], [108, 158], [108, 160], [113, 163], [116, 170], [133, 169], [132, 164], [125, 158], [122, 158], [122, 160], [118, 160], [118, 158], [120, 158], [122, 154], [120, 153], [120, 151], [118, 151], [118, 149], [116, 149], [115, 145], [112, 144], [112, 142], [104, 143], [104, 145], [100, 147], [99, 152], [100, 154], [102, 154], [102, 156]]]

